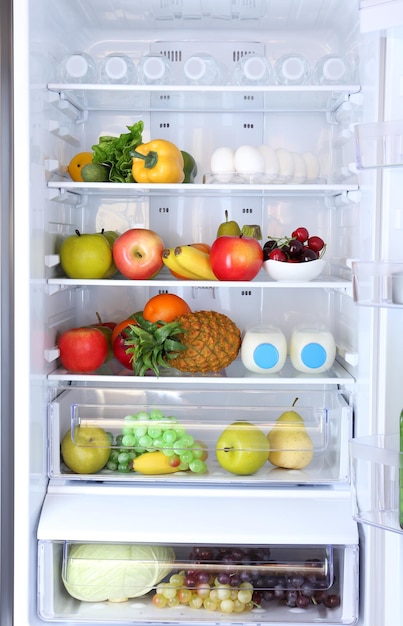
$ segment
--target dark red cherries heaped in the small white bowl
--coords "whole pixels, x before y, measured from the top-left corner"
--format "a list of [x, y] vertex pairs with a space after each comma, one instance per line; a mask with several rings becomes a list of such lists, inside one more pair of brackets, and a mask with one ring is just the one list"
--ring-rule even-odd
[[317, 235], [310, 236], [304, 226], [299, 226], [291, 237], [270, 237], [263, 246], [265, 261], [283, 261], [288, 263], [305, 263], [322, 258], [326, 244]]

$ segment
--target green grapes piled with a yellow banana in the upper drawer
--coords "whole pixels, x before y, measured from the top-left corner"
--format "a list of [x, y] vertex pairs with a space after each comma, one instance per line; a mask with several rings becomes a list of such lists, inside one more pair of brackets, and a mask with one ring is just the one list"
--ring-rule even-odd
[[107, 469], [140, 474], [190, 471], [204, 474], [207, 451], [173, 416], [160, 409], [127, 415], [122, 433], [112, 441]]

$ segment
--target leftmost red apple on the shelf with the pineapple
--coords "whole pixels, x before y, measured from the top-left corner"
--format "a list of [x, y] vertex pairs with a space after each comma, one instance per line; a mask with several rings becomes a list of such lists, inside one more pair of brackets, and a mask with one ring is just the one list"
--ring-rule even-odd
[[59, 337], [58, 348], [63, 367], [70, 372], [93, 372], [108, 354], [108, 341], [99, 328], [71, 328]]

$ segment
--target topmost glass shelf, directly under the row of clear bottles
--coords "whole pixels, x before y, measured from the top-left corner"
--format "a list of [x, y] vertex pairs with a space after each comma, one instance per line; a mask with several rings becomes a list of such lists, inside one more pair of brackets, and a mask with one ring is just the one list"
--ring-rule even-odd
[[78, 111], [323, 111], [333, 112], [359, 85], [203, 86], [49, 83]]

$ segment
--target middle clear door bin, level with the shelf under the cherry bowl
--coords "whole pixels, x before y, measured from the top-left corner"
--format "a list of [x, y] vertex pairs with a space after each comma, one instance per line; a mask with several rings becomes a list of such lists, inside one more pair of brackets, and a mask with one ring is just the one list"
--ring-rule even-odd
[[353, 297], [362, 306], [403, 305], [403, 263], [354, 261]]

